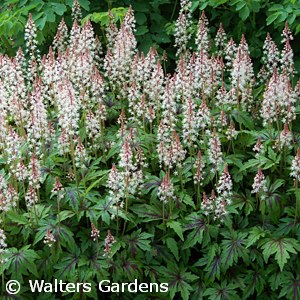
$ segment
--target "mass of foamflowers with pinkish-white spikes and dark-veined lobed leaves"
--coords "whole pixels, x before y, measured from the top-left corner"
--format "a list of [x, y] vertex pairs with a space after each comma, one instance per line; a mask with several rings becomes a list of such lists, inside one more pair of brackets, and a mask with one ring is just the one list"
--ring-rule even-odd
[[[247, 36], [212, 36], [204, 12], [191, 30], [180, 5], [173, 74], [137, 51], [131, 7], [101, 43], [77, 1], [47, 54], [29, 15], [24, 49], [0, 56], [4, 299], [10, 279], [13, 299], [97, 299], [103, 279], [169, 284], [111, 299], [299, 298], [293, 35], [267, 35], [254, 72]], [[32, 294], [29, 279], [95, 286]]]

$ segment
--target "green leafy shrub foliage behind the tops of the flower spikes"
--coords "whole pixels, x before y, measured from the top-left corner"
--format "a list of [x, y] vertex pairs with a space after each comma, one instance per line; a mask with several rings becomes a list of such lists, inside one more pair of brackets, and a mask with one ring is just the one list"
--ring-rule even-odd
[[[267, 32], [280, 44], [281, 32], [288, 22], [295, 39], [292, 48], [295, 54], [295, 68], [300, 70], [300, 1], [297, 0], [193, 0], [194, 29], [201, 10], [205, 10], [210, 20], [211, 35], [214, 36], [222, 22], [225, 31], [238, 42], [245, 34], [250, 45], [251, 57], [256, 59], [256, 67], [261, 57], [261, 49]], [[96, 32], [103, 36], [108, 22], [107, 10], [111, 9], [116, 19], [122, 19], [126, 8], [132, 5], [137, 21], [136, 37], [139, 49], [148, 52], [155, 46], [160, 54], [168, 54], [168, 65], [174, 66], [173, 48], [174, 22], [178, 17], [180, 1], [175, 0], [80, 0], [83, 14], [91, 18]], [[32, 13], [37, 24], [39, 43], [46, 52], [64, 15], [71, 26], [73, 0], [10, 0], [0, 9], [0, 32], [2, 53], [14, 54], [24, 43], [23, 32], [28, 13]], [[98, 25], [98, 26], [97, 26]], [[103, 42], [104, 38], [103, 38]], [[193, 45], [191, 45], [193, 46]], [[171, 68], [172, 70], [173, 68]]]

